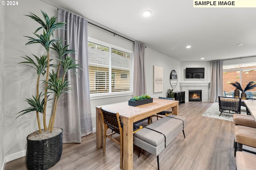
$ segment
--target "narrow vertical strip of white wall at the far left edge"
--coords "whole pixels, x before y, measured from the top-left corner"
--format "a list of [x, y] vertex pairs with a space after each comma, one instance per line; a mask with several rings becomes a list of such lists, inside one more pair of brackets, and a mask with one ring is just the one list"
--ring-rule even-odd
[[4, 168], [4, 6], [0, 6], [0, 169]]

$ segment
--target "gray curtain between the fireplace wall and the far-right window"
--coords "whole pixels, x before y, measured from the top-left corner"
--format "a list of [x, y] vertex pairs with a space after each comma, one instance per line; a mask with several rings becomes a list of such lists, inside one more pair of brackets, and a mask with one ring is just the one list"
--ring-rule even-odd
[[218, 102], [218, 96], [223, 96], [223, 61], [210, 61], [210, 102]]

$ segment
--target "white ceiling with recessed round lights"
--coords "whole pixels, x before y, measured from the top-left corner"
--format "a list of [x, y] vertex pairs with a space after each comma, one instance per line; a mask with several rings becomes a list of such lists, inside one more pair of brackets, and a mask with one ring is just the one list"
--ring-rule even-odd
[[[255, 8], [193, 8], [192, 0], [54, 0], [48, 3], [180, 61], [256, 55]], [[152, 11], [152, 15], [145, 18], [144, 10]], [[239, 43], [243, 45], [238, 46]], [[187, 49], [187, 45], [191, 48]]]

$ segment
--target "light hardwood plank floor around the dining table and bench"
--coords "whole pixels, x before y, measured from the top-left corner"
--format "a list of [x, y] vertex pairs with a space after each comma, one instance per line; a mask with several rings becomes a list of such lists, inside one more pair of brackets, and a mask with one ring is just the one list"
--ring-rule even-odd
[[[161, 170], [235, 170], [234, 124], [202, 117], [212, 103], [188, 102], [179, 105], [179, 115], [188, 125], [159, 155]], [[154, 117], [153, 121], [156, 121]], [[171, 125], [170, 125], [171, 126]], [[118, 135], [118, 134], [115, 134]], [[117, 136], [118, 137], [118, 136]], [[50, 170], [119, 170], [120, 146], [107, 139], [106, 153], [96, 147], [95, 132], [81, 144], [63, 144], [60, 161]], [[26, 170], [26, 158], [6, 163], [5, 170]], [[134, 146], [134, 170], [156, 170], [156, 156], [145, 152], [138, 158]]]

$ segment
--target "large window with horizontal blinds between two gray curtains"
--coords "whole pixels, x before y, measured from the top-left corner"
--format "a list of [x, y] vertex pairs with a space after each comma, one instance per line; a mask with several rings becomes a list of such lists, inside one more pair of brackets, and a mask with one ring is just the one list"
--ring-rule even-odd
[[132, 51], [89, 39], [88, 55], [91, 95], [132, 92]]

